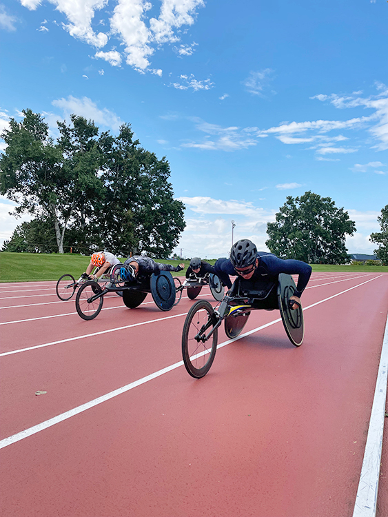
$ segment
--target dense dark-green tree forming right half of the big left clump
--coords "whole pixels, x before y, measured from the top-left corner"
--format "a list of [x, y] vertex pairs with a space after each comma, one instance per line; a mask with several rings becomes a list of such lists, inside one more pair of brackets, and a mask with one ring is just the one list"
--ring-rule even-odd
[[116, 138], [102, 134], [105, 203], [101, 221], [106, 247], [122, 255], [146, 252], [167, 259], [185, 227], [184, 205], [174, 199], [170, 165], [141, 148], [130, 126]]

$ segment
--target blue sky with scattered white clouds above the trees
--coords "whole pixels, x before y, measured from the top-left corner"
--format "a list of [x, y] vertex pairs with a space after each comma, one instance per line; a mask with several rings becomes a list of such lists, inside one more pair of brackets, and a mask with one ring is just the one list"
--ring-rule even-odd
[[[385, 0], [0, 0], [0, 129], [31, 108], [130, 123], [171, 167], [187, 227], [177, 251], [265, 250], [286, 196], [329, 196], [356, 221], [388, 203]], [[0, 141], [0, 148], [4, 143]], [[12, 207], [11, 207], [12, 208]], [[24, 219], [0, 199], [0, 243]]]

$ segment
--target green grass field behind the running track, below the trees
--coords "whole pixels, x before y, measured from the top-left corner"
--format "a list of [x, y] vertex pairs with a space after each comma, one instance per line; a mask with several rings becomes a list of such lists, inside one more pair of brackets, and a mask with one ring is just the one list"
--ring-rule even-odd
[[[121, 259], [124, 261], [125, 259]], [[41, 253], [8, 253], [0, 252], [0, 282], [26, 282], [42, 280], [58, 280], [65, 273], [78, 277], [83, 273], [90, 261], [89, 256], [75, 254], [41, 254]], [[178, 260], [160, 260], [159, 262], [178, 265]], [[190, 261], [182, 261], [185, 266]], [[215, 260], [208, 261], [214, 264]], [[384, 272], [388, 266], [376, 265], [313, 265], [313, 271], [327, 272]], [[185, 272], [180, 272], [183, 275]]]

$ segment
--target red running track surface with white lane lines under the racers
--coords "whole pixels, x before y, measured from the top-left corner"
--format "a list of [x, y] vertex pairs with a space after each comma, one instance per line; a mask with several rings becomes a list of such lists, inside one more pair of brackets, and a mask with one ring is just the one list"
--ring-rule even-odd
[[[301, 347], [274, 323], [218, 349], [201, 380], [181, 363], [185, 292], [170, 312], [109, 294], [83, 321], [54, 286], [0, 284], [3, 516], [353, 514], [388, 274], [313, 274]], [[243, 332], [278, 318], [253, 312]]]

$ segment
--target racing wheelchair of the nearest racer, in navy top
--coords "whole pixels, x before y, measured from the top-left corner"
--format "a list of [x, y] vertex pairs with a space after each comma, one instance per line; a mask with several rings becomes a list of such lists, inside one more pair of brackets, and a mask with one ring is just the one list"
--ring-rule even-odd
[[[255, 283], [236, 278], [231, 290], [215, 308], [209, 302], [196, 302], [188, 312], [182, 334], [183, 363], [194, 378], [209, 372], [216, 355], [218, 327], [224, 321], [225, 334], [236, 338], [245, 327], [253, 310], [280, 310], [285, 332], [293, 345], [303, 342], [303, 310], [290, 300], [296, 286], [292, 276], [280, 273]], [[298, 305], [292, 309], [292, 305]]]

